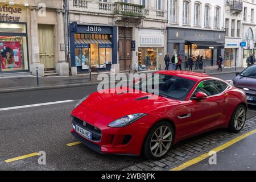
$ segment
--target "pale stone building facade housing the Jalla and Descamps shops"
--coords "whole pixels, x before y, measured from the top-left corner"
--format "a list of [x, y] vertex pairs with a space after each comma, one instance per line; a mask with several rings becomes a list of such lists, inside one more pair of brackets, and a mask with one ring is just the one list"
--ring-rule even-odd
[[68, 2], [72, 75], [163, 65], [167, 0]]

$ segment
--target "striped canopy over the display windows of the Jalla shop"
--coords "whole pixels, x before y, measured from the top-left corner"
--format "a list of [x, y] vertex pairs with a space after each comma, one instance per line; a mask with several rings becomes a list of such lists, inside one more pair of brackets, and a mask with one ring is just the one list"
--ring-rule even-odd
[[112, 42], [108, 39], [75, 39], [76, 48], [89, 48], [90, 44], [98, 44], [100, 48], [112, 47]]

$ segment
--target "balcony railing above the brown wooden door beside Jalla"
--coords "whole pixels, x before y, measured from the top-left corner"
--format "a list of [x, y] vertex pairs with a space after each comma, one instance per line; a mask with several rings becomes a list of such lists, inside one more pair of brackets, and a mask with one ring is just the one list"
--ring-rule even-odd
[[125, 2], [114, 3], [114, 14], [123, 16], [137, 16], [144, 18], [144, 6]]

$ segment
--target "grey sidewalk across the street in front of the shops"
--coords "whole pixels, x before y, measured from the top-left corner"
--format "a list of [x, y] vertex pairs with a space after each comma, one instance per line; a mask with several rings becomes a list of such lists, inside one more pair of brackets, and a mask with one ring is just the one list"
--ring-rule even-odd
[[[244, 68], [224, 68], [222, 72], [217, 70], [217, 67], [208, 67], [206, 69], [207, 75], [217, 75], [226, 73], [236, 73], [243, 71]], [[151, 71], [149, 71], [151, 72]], [[148, 71], [146, 73], [149, 73]], [[194, 72], [204, 72], [204, 70], [195, 70]], [[123, 72], [129, 73], [129, 72]], [[142, 72], [140, 72], [142, 73]], [[43, 90], [56, 88], [71, 88], [76, 86], [92, 86], [97, 85], [98, 75], [92, 75], [92, 81], [89, 81], [89, 75], [70, 76], [70, 77], [39, 77], [39, 86], [37, 86], [36, 77], [16, 76], [16, 77], [0, 77], [0, 93], [22, 92], [28, 90]]]

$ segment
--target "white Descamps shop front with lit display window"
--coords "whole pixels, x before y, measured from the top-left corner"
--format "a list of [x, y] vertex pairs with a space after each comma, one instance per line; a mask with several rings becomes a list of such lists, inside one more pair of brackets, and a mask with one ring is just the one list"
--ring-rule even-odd
[[156, 70], [164, 60], [164, 31], [139, 29], [138, 61], [141, 71]]

